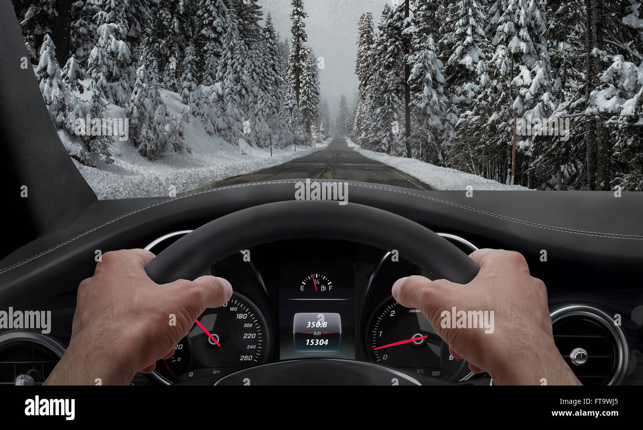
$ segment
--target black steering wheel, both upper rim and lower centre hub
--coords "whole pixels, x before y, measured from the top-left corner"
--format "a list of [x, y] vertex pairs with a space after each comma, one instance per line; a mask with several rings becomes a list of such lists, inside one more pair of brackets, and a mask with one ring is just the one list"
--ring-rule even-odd
[[[359, 242], [399, 255], [436, 280], [468, 283], [480, 267], [448, 240], [394, 213], [362, 204], [337, 201], [282, 201], [254, 206], [215, 219], [161, 251], [145, 271], [156, 283], [194, 279], [210, 265], [241, 249], [295, 238], [329, 238]], [[326, 381], [311, 375], [331, 377]], [[302, 359], [240, 370], [217, 384], [242, 384], [252, 375], [256, 384], [419, 384], [386, 366], [340, 359]], [[446, 382], [436, 380], [435, 384]]]

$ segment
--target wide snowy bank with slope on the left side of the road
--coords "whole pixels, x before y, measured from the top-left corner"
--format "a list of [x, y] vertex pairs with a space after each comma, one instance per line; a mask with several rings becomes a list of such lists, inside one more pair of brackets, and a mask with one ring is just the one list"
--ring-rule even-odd
[[[178, 94], [161, 91], [161, 96], [174, 116], [185, 109]], [[123, 109], [109, 105], [104, 118], [119, 117], [125, 117]], [[63, 133], [59, 135], [63, 140], [68, 139]], [[231, 176], [286, 163], [324, 148], [330, 141], [325, 141], [318, 148], [306, 149], [298, 145], [296, 151], [293, 146], [273, 148], [271, 157], [269, 148], [252, 147], [245, 141], [241, 141], [239, 146], [231, 145], [217, 136], [208, 135], [192, 115], [190, 122], [185, 124], [184, 136], [191, 154], [171, 152], [162, 159], [149, 161], [129, 140], [115, 139], [113, 152], [116, 162], [113, 165], [97, 168], [81, 165], [75, 160], [74, 163], [100, 200], [167, 197], [172, 186], [176, 187], [176, 193], [188, 192]]]

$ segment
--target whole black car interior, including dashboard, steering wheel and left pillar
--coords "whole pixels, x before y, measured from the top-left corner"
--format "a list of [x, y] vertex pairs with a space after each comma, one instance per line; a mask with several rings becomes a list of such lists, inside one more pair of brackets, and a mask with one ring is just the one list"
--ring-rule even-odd
[[643, 384], [640, 192], [346, 181], [344, 205], [296, 200], [305, 178], [284, 178], [98, 199], [32, 70], [15, 67], [27, 53], [8, 0], [0, 40], [0, 310], [51, 310], [46, 334], [0, 329], [0, 384], [42, 384], [69, 345], [78, 285], [96, 258], [136, 248], [156, 255], [145, 270], [157, 283], [213, 274], [234, 292], [199, 317], [212, 336], [195, 325], [134, 386], [493, 385], [391, 294], [413, 274], [467, 288], [479, 270], [469, 254], [483, 248], [518, 251], [545, 282], [556, 346], [579, 381]]

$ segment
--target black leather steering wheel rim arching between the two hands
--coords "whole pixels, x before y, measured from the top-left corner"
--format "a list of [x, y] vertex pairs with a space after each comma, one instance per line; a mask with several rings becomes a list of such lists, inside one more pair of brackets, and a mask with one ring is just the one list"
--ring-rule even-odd
[[391, 251], [432, 280], [469, 283], [480, 267], [448, 240], [404, 217], [362, 204], [282, 201], [230, 213], [161, 251], [145, 271], [156, 283], [192, 280], [242, 249], [280, 240], [329, 238]]

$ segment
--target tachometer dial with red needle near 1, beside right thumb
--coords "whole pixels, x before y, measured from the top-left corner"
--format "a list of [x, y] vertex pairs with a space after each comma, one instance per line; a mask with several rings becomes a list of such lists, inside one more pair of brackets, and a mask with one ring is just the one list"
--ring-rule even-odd
[[414, 377], [459, 381], [469, 373], [466, 361], [449, 354], [449, 346], [418, 309], [406, 308], [392, 297], [371, 316], [366, 343], [371, 361]]

